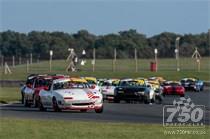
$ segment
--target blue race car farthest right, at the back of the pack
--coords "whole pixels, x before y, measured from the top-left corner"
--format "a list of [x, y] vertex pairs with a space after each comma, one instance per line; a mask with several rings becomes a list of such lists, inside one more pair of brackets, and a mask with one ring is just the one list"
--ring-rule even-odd
[[196, 78], [183, 78], [181, 79], [181, 85], [186, 90], [203, 91], [204, 82]]

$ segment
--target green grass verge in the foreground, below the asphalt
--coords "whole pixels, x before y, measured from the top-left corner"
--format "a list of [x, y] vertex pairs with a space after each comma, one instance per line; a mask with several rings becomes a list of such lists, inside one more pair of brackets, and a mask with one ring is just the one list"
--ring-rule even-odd
[[195, 129], [206, 135], [164, 135], [165, 130], [160, 124], [0, 118], [0, 139], [207, 139], [209, 132], [206, 128]]

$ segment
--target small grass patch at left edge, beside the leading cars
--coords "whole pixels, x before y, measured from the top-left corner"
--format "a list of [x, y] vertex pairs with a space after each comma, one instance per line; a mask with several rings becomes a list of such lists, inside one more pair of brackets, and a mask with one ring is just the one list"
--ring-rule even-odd
[[20, 89], [17, 87], [0, 87], [0, 103], [19, 101], [21, 97]]

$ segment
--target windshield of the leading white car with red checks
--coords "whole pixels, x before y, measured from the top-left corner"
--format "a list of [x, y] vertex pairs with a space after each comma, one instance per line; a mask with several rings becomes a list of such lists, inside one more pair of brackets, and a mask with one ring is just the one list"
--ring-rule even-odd
[[59, 89], [76, 89], [76, 88], [90, 88], [89, 84], [84, 82], [72, 82], [72, 81], [65, 81], [65, 82], [58, 82], [53, 85], [53, 90]]

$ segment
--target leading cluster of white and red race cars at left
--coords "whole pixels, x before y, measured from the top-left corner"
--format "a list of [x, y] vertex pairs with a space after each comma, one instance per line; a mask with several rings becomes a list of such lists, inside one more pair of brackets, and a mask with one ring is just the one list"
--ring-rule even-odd
[[95, 110], [103, 112], [102, 94], [85, 79], [65, 75], [29, 75], [21, 87], [22, 103], [41, 111]]

